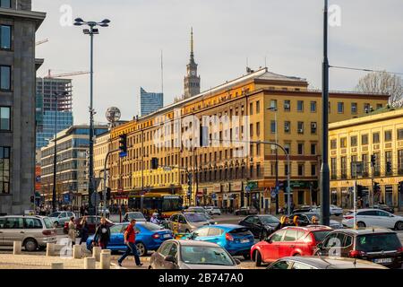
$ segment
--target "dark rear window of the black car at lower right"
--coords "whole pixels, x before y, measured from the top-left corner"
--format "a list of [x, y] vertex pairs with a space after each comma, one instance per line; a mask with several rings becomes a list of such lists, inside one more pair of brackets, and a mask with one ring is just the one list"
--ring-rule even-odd
[[359, 235], [356, 238], [356, 249], [364, 252], [390, 251], [401, 248], [395, 233], [378, 233]]

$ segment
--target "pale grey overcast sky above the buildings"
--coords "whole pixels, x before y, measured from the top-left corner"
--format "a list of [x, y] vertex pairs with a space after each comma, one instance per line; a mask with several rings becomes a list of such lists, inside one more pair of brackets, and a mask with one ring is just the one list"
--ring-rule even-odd
[[[62, 26], [62, 5], [73, 19], [110, 19], [95, 39], [96, 121], [116, 106], [123, 119], [139, 114], [140, 87], [160, 91], [164, 54], [165, 104], [182, 95], [189, 60], [190, 28], [201, 91], [245, 74], [246, 58], [257, 69], [306, 78], [322, 87], [322, 0], [32, 0], [47, 19], [37, 40], [45, 58], [38, 75], [90, 69], [90, 37]], [[403, 1], [330, 0], [341, 8], [341, 26], [330, 28], [330, 65], [403, 72]], [[330, 71], [331, 90], [352, 90], [364, 72]], [[73, 78], [74, 124], [89, 122], [89, 74]]]

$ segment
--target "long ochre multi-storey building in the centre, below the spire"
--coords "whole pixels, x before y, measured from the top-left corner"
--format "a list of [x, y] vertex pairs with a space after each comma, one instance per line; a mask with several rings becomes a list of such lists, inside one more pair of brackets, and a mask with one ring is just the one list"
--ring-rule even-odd
[[[330, 92], [330, 122], [363, 115], [367, 107], [386, 105], [387, 96], [352, 92]], [[274, 107], [276, 111], [268, 110]], [[270, 189], [275, 187], [275, 151], [271, 145], [252, 143], [248, 148], [234, 143], [225, 145], [225, 138], [234, 133], [246, 136], [246, 141], [276, 140], [275, 117], [278, 118], [277, 138], [291, 155], [291, 187], [293, 201], [298, 204], [318, 202], [319, 168], [321, 161], [322, 93], [308, 89], [302, 78], [270, 73], [267, 68], [246, 74], [223, 83], [190, 99], [159, 109], [145, 117], [117, 126], [111, 131], [112, 149], [119, 147], [119, 135], [127, 135], [128, 156], [111, 159], [110, 187], [112, 192], [136, 194], [160, 192], [181, 195], [185, 204], [217, 204], [221, 208], [236, 209], [253, 204], [269, 210]], [[351, 108], [354, 107], [354, 108]], [[193, 148], [185, 148], [178, 138], [164, 138], [163, 147], [156, 146], [156, 133], [167, 128], [164, 122], [174, 121], [170, 133], [174, 134], [175, 119], [187, 117], [202, 119], [205, 116], [224, 117], [233, 121], [239, 117], [236, 128], [218, 124], [210, 126], [210, 139], [220, 144], [198, 147], [199, 127], [182, 125], [180, 131], [187, 136]], [[162, 118], [161, 118], [162, 117]], [[242, 120], [247, 117], [247, 121]], [[238, 119], [235, 119], [238, 120]], [[167, 143], [171, 147], [167, 147]], [[177, 147], [172, 147], [172, 146]], [[249, 151], [235, 156], [240, 150]], [[159, 168], [151, 170], [151, 159], [159, 158], [162, 166], [187, 168], [193, 174], [190, 202], [186, 196], [187, 176], [184, 170]], [[286, 179], [286, 162], [279, 150], [279, 182]], [[250, 189], [250, 192], [246, 192]], [[279, 204], [285, 204], [280, 188]]]

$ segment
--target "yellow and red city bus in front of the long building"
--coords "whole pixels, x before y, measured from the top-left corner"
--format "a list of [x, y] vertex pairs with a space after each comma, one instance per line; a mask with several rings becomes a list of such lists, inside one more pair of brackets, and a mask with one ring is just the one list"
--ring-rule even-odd
[[[160, 213], [162, 217], [170, 217], [182, 210], [182, 196], [169, 196], [157, 193], [148, 193], [143, 196], [142, 208], [147, 213]], [[141, 211], [141, 196], [129, 196], [129, 210]]]

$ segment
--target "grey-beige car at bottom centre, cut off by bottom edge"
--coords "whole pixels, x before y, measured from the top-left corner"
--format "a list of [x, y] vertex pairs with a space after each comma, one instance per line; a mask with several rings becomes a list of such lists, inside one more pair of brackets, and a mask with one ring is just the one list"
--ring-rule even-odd
[[150, 258], [149, 269], [234, 269], [240, 261], [218, 244], [167, 240]]

